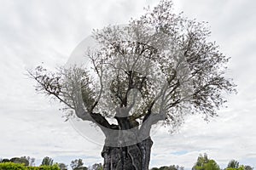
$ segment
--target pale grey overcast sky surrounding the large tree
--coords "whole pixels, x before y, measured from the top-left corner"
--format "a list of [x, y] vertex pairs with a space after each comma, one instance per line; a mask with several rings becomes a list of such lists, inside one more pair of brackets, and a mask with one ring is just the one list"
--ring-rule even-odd
[[[36, 94], [26, 68], [44, 62], [65, 65], [73, 49], [93, 28], [125, 24], [158, 0], [0, 0], [0, 157], [44, 156], [85, 165], [102, 162], [102, 145], [84, 139], [61, 118], [58, 103]], [[176, 11], [208, 21], [220, 50], [230, 56], [227, 77], [238, 94], [228, 108], [204, 122], [188, 117], [179, 133], [154, 133], [150, 167], [177, 164], [190, 169], [199, 154], [221, 167], [236, 159], [256, 168], [256, 2], [253, 0], [177, 0]]]

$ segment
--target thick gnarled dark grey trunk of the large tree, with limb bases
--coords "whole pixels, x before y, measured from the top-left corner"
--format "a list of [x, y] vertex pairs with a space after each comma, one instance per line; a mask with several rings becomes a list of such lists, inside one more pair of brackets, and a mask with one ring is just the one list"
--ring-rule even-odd
[[148, 170], [150, 152], [153, 144], [150, 129], [153, 124], [164, 120], [164, 114], [151, 114], [151, 108], [143, 117], [143, 122], [137, 122], [136, 116], [129, 116], [130, 109], [120, 108], [114, 118], [118, 124], [109, 124], [106, 117], [99, 113], [82, 113], [77, 111], [79, 118], [95, 122], [104, 133], [105, 145], [102, 150], [104, 170]]

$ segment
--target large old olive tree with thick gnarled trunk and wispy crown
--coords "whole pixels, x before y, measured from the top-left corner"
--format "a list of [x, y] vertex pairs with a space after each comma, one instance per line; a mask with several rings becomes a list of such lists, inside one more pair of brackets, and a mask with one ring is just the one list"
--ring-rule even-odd
[[67, 106], [69, 116], [95, 123], [105, 135], [104, 170], [148, 169], [150, 129], [172, 130], [184, 116], [216, 116], [224, 93], [235, 85], [224, 77], [229, 60], [207, 38], [206, 23], [174, 14], [163, 0], [126, 26], [93, 31], [97, 48], [84, 49], [89, 66], [29, 71], [37, 90]]

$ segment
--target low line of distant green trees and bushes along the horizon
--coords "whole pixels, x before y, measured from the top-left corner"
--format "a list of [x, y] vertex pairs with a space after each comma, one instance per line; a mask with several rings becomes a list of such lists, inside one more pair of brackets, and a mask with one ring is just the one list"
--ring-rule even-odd
[[[52, 158], [45, 156], [39, 167], [35, 167], [35, 158], [30, 156], [13, 157], [11, 159], [0, 158], [0, 170], [67, 170], [68, 165], [65, 163], [54, 162]], [[95, 163], [90, 167], [84, 167], [82, 159], [71, 161], [70, 167], [73, 170], [103, 170], [102, 163]], [[171, 165], [169, 167], [153, 167], [151, 170], [184, 170], [184, 167]], [[221, 169], [216, 161], [208, 158], [207, 154], [204, 154], [198, 156], [192, 170], [253, 170], [253, 167], [249, 165], [241, 165], [238, 161], [231, 160], [227, 164], [227, 167]]]

